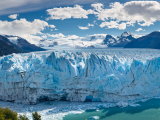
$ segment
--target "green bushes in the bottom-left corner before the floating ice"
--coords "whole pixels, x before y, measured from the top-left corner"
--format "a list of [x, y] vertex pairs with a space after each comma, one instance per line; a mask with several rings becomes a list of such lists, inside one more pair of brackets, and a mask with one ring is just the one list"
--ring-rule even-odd
[[[41, 120], [41, 116], [35, 112], [32, 113], [33, 120]], [[9, 108], [0, 107], [0, 120], [29, 120], [26, 115], [19, 115], [17, 112], [10, 110]]]

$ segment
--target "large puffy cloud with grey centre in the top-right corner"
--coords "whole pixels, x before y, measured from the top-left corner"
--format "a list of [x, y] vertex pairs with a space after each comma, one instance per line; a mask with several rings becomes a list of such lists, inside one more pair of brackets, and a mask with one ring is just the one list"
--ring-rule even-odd
[[124, 29], [126, 25], [134, 26], [138, 23], [140, 26], [150, 26], [160, 21], [160, 3], [157, 1], [114, 2], [107, 9], [100, 3], [91, 6], [96, 10], [94, 14], [97, 19], [104, 21], [100, 27]]

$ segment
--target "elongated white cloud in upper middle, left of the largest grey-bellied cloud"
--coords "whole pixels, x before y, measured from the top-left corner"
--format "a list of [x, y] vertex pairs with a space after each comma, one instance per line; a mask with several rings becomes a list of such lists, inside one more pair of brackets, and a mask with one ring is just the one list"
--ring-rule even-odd
[[93, 10], [85, 10], [80, 5], [75, 5], [74, 7], [64, 7], [64, 8], [53, 8], [47, 10], [50, 17], [47, 20], [52, 19], [69, 19], [69, 18], [88, 18], [88, 14], [93, 14]]

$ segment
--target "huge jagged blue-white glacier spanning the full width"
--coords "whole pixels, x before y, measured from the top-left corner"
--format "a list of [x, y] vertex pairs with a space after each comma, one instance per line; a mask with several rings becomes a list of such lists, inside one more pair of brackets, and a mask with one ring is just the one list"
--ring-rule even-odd
[[159, 96], [159, 50], [51, 50], [0, 57], [1, 101], [118, 103]]

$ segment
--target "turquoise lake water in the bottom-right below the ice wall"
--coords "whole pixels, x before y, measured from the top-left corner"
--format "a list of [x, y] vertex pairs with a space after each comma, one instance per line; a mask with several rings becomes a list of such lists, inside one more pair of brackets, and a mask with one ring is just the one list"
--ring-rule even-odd
[[139, 102], [141, 106], [125, 108], [108, 108], [86, 110], [82, 114], [67, 115], [63, 120], [90, 120], [91, 116], [99, 116], [99, 120], [160, 120], [160, 99]]

